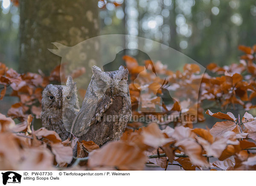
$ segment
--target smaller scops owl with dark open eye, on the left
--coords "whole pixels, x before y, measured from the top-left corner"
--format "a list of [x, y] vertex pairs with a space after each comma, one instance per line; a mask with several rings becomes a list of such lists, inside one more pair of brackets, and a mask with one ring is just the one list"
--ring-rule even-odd
[[48, 84], [42, 93], [42, 126], [58, 133], [64, 141], [79, 109], [76, 83], [71, 76], [67, 77], [66, 86]]

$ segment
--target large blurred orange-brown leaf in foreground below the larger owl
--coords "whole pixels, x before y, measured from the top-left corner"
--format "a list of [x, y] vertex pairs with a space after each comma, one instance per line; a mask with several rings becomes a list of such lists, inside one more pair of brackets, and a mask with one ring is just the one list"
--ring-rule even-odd
[[122, 141], [108, 142], [89, 154], [88, 166], [117, 167], [118, 170], [143, 170], [147, 157], [140, 148]]

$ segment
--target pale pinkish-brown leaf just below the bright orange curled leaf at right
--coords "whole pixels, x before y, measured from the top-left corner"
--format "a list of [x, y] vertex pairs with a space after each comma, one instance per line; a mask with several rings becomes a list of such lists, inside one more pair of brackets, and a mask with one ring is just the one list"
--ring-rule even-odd
[[236, 128], [236, 123], [228, 120], [224, 122], [216, 122], [210, 129], [210, 133], [214, 137], [219, 137], [227, 131], [233, 131]]

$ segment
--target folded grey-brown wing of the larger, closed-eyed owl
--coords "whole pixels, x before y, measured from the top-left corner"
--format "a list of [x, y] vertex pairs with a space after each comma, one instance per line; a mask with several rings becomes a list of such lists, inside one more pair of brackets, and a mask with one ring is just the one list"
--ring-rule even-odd
[[103, 113], [112, 104], [113, 99], [105, 97], [101, 99], [84, 99], [82, 107], [73, 121], [71, 132], [75, 136], [86, 134], [90, 127], [102, 119]]

